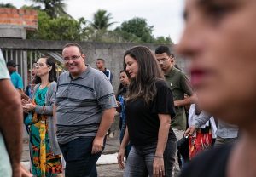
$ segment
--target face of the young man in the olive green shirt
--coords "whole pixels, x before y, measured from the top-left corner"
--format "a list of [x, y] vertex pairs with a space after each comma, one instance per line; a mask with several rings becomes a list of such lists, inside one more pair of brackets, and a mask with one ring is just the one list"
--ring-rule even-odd
[[166, 53], [155, 54], [155, 57], [162, 71], [169, 71], [174, 65], [174, 59]]

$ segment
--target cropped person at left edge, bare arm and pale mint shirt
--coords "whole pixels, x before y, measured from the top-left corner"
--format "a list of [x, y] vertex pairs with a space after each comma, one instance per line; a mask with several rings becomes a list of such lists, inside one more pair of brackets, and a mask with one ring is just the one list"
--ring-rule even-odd
[[0, 176], [32, 176], [20, 164], [22, 152], [22, 107], [0, 55]]

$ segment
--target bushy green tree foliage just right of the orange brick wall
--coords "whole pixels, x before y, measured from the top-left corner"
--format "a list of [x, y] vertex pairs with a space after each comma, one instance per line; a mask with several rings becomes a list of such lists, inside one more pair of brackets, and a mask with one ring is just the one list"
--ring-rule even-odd
[[[44, 11], [38, 11], [38, 30], [28, 31], [29, 39], [45, 40], [86, 40], [86, 20], [73, 20], [67, 16], [51, 19]], [[86, 36], [87, 35], [87, 36]]]

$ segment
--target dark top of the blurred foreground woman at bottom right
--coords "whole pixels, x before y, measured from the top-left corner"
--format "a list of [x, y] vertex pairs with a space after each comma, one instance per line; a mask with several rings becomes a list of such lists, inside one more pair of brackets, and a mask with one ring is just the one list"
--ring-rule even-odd
[[187, 163], [180, 177], [225, 177], [227, 162], [233, 146], [223, 146], [204, 151]]

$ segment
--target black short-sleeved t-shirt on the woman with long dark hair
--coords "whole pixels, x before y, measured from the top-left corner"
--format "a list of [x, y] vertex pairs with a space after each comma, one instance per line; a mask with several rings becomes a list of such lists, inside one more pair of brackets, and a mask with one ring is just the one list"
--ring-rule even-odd
[[[158, 140], [160, 127], [158, 114], [175, 116], [172, 90], [163, 80], [157, 81], [155, 85], [157, 93], [154, 100], [148, 105], [143, 98], [130, 100], [126, 103], [125, 115], [132, 145], [143, 146], [155, 143]], [[168, 140], [176, 140], [171, 128]]]

